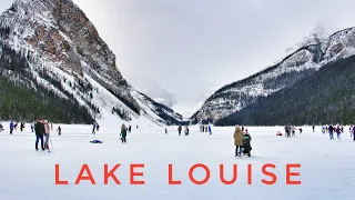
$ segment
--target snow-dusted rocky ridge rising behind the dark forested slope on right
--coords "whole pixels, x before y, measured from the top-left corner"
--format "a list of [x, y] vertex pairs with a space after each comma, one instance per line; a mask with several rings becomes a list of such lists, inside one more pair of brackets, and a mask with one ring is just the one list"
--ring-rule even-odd
[[216, 122], [247, 108], [258, 98], [268, 97], [307, 79], [329, 62], [353, 54], [355, 54], [355, 28], [335, 32], [325, 40], [307, 43], [281, 62], [217, 90], [192, 116], [191, 123], [203, 120]]

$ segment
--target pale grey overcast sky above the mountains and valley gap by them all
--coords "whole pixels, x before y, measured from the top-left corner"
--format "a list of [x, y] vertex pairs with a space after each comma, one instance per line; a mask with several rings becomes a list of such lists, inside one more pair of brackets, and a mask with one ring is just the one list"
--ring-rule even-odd
[[[1, 10], [13, 0], [0, 0]], [[354, 0], [74, 0], [134, 86], [144, 77], [195, 103], [281, 60], [316, 24], [355, 26]], [[141, 78], [140, 78], [141, 77]]]

